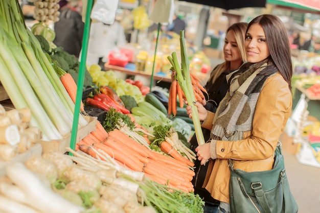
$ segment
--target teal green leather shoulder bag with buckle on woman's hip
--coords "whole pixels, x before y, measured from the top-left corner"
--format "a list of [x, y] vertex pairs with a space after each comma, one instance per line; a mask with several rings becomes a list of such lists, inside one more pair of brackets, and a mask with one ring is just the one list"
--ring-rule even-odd
[[232, 213], [298, 212], [279, 144], [275, 151], [275, 163], [269, 171], [244, 172], [231, 167], [229, 188]]

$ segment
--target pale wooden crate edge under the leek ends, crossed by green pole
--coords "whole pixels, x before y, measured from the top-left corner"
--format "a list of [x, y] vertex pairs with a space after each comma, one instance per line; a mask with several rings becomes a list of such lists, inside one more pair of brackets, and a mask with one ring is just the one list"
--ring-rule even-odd
[[[85, 127], [78, 129], [76, 143], [87, 136], [90, 132], [95, 131], [97, 127], [97, 117], [84, 116], [88, 124]], [[49, 151], [57, 151], [65, 153], [66, 147], [70, 147], [71, 133], [65, 135], [61, 140], [41, 141], [42, 153]]]

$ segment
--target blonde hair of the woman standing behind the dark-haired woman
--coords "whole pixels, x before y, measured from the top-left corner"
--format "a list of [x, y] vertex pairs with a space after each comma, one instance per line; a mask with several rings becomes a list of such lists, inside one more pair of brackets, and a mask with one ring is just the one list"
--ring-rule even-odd
[[[230, 26], [226, 31], [225, 31], [225, 36], [228, 34], [229, 31], [233, 31], [235, 33], [236, 41], [238, 44], [238, 49], [240, 52], [240, 57], [242, 62], [246, 61], [246, 54], [245, 54], [245, 49], [244, 49], [244, 40], [245, 40], [245, 34], [247, 30], [248, 23], [246, 22], [238, 22], [234, 23], [232, 26]], [[212, 81], [214, 83], [216, 79], [223, 73], [225, 70], [230, 70], [230, 61], [224, 61], [224, 63], [219, 64], [215, 72], [212, 72], [209, 78], [209, 81]]]

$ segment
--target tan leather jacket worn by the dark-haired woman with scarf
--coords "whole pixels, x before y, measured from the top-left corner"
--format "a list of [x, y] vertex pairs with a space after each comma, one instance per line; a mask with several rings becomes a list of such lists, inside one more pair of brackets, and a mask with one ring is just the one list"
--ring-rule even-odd
[[[273, 153], [280, 135], [284, 131], [291, 112], [292, 96], [288, 83], [281, 74], [266, 80], [257, 101], [253, 120], [253, 130], [247, 131], [242, 140], [211, 141], [212, 158], [217, 159], [212, 168], [210, 162], [203, 186], [211, 196], [229, 203], [230, 168], [228, 159], [233, 159], [234, 168], [246, 172], [266, 171], [272, 168]], [[202, 127], [212, 127], [211, 119], [203, 122]]]

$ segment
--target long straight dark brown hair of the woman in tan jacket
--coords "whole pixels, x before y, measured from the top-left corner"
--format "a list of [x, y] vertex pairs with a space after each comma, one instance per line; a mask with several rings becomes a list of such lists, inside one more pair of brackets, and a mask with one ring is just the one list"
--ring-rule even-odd
[[270, 52], [269, 59], [278, 68], [291, 89], [292, 61], [289, 39], [283, 22], [275, 15], [263, 14], [250, 21], [247, 30], [255, 23], [264, 30]]

